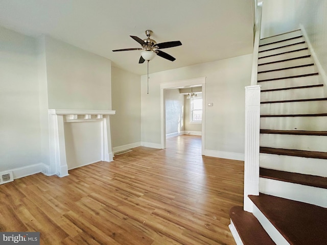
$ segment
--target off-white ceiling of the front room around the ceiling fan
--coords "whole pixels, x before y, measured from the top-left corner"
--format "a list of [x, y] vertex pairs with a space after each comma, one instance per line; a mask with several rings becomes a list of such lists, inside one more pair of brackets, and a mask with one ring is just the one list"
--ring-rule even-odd
[[130, 35], [157, 43], [182, 42], [167, 48], [174, 62], [155, 57], [149, 72], [174, 69], [252, 53], [254, 0], [0, 0], [0, 25], [37, 37], [52, 36], [106, 57], [116, 67], [144, 75], [141, 47]]

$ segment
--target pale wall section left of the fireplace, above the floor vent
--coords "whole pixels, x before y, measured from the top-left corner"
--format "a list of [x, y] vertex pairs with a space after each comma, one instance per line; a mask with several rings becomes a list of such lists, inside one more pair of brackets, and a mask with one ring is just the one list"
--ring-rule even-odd
[[0, 171], [41, 162], [37, 43], [0, 27]]

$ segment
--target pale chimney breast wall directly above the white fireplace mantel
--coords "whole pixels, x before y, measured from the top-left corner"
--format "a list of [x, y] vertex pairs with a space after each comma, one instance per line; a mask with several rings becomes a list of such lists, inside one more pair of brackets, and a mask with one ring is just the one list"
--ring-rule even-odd
[[111, 110], [111, 61], [45, 37], [49, 109]]

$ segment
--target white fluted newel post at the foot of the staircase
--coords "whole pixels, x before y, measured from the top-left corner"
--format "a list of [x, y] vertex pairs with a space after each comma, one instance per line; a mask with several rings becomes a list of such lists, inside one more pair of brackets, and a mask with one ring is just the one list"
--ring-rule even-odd
[[245, 87], [244, 210], [253, 212], [248, 195], [259, 195], [260, 85]]

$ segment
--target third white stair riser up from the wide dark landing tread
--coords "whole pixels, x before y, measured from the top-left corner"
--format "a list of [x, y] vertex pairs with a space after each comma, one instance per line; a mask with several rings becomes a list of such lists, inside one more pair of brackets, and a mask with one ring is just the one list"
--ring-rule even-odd
[[260, 146], [302, 151], [327, 152], [327, 136], [260, 134]]

